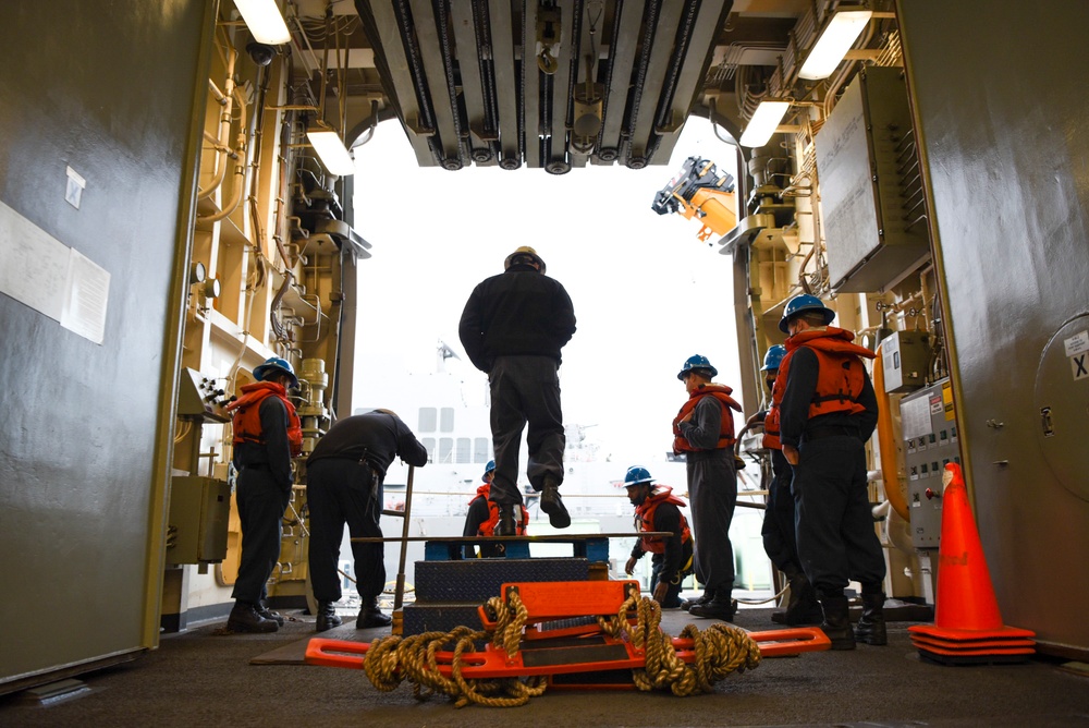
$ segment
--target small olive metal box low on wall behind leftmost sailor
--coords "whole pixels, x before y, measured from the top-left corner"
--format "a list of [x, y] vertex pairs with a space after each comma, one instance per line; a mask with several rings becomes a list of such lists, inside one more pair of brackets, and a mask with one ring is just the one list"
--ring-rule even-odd
[[227, 481], [182, 475], [170, 482], [167, 563], [216, 563], [227, 557], [231, 486]]

